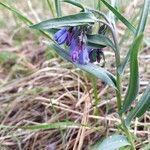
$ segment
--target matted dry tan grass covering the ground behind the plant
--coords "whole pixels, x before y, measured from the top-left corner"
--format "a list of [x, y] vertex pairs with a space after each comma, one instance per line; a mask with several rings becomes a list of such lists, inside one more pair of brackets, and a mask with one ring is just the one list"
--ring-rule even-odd
[[[26, 9], [22, 8], [24, 12], [28, 12]], [[126, 12], [129, 9], [131, 8], [126, 9]], [[6, 10], [1, 14], [6, 16], [4, 20], [12, 17]], [[41, 131], [1, 129], [0, 149], [87, 150], [97, 140], [114, 133], [120, 122], [116, 113], [114, 91], [98, 80], [99, 114], [93, 115], [94, 95], [88, 75], [60, 58], [47, 59], [48, 54], [45, 51], [48, 50], [40, 42], [41, 39], [37, 39], [37, 36], [23, 28], [23, 25], [20, 28], [14, 19], [11, 19], [11, 22], [13, 26], [8, 24], [7, 28], [0, 30], [0, 51], [13, 52], [17, 56], [15, 61], [0, 65], [1, 125], [19, 127], [73, 121], [88, 127]], [[123, 28], [122, 24], [118, 24], [119, 36], [124, 33]], [[146, 33], [147, 36], [150, 35], [150, 27]], [[127, 41], [125, 46], [128, 44]], [[127, 50], [127, 47], [122, 49]], [[51, 51], [49, 50], [50, 53]], [[51, 55], [54, 55], [53, 52]], [[114, 72], [113, 53], [106, 49], [105, 55], [106, 69]], [[142, 93], [150, 80], [150, 49], [147, 46], [140, 55], [140, 74]], [[127, 88], [128, 75], [127, 69], [123, 79], [124, 91]], [[149, 112], [132, 123], [132, 132], [139, 138], [136, 142], [137, 149], [150, 142]]]

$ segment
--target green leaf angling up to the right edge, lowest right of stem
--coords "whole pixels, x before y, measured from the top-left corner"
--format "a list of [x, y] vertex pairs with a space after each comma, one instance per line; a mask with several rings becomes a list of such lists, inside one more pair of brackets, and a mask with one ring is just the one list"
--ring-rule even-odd
[[138, 104], [128, 114], [125, 120], [126, 125], [129, 126], [134, 117], [141, 117], [149, 107], [150, 107], [150, 83], [146, 88], [145, 92], [143, 93]]

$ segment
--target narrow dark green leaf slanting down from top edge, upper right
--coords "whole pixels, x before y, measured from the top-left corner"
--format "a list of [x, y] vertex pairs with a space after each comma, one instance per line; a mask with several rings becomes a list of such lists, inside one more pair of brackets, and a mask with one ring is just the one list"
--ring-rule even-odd
[[124, 18], [115, 8], [113, 8], [109, 3], [107, 3], [105, 0], [101, 0], [101, 2], [103, 2], [105, 4], [106, 7], [108, 7], [108, 9], [110, 11], [112, 11], [114, 13], [114, 15], [124, 24], [127, 26], [127, 28], [132, 31], [133, 33], [136, 32], [135, 27], [126, 19]]

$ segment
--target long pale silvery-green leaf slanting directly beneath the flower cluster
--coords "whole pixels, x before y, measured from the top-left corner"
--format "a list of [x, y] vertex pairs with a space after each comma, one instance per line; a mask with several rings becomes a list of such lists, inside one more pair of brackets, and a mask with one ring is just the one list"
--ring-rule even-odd
[[[59, 54], [61, 57], [68, 60], [69, 62], [73, 63], [68, 51], [62, 49], [57, 44], [49, 44], [49, 43], [47, 43], [47, 44], [51, 48], [53, 48], [57, 52], [57, 54]], [[97, 65], [91, 64], [91, 63], [88, 63], [87, 65], [81, 65], [78, 63], [73, 63], [73, 64], [76, 67], [80, 68], [81, 70], [91, 73], [92, 75], [96, 76], [97, 78], [101, 79], [102, 81], [104, 81], [105, 83], [107, 83], [108, 85], [110, 85], [111, 87], [116, 89], [116, 79], [115, 79], [114, 75], [112, 75], [107, 70], [105, 70]]]

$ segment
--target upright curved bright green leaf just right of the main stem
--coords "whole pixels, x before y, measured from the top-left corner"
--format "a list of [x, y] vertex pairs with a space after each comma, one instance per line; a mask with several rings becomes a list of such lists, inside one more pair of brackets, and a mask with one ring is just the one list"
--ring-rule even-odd
[[130, 80], [128, 90], [123, 103], [123, 110], [125, 112], [131, 103], [135, 100], [139, 91], [139, 66], [138, 66], [138, 52], [143, 41], [144, 34], [140, 34], [133, 42], [130, 56]]

